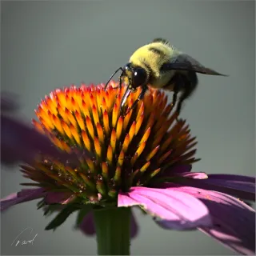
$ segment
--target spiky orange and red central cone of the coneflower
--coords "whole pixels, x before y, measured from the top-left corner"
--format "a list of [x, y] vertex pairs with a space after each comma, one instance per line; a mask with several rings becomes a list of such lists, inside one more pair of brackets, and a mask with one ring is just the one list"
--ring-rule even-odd
[[[140, 89], [131, 94], [128, 107]], [[45, 188], [66, 190], [81, 202], [117, 204], [118, 191], [131, 186], [148, 186], [158, 178], [170, 176], [174, 166], [190, 165], [195, 138], [185, 122], [169, 117], [167, 97], [152, 90], [136, 110], [123, 116], [123, 94], [110, 86], [71, 86], [55, 90], [36, 110], [38, 131], [46, 134], [61, 150], [77, 152], [79, 164], [42, 158], [34, 168], [22, 166], [28, 178]], [[116, 97], [117, 95], [117, 97]], [[85, 157], [88, 150], [93, 157]]]

